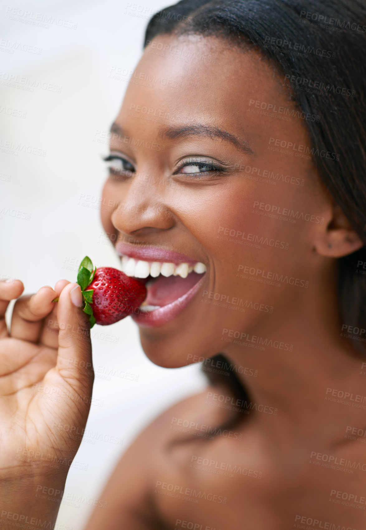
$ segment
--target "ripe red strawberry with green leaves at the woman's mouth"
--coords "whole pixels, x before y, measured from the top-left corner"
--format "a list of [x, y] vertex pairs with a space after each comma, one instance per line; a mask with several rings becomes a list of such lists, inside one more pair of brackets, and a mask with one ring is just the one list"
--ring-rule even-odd
[[87, 256], [80, 264], [77, 283], [82, 288], [83, 311], [89, 315], [91, 328], [94, 324], [106, 326], [124, 319], [144, 302], [147, 295], [141, 281], [111, 267], [95, 269]]

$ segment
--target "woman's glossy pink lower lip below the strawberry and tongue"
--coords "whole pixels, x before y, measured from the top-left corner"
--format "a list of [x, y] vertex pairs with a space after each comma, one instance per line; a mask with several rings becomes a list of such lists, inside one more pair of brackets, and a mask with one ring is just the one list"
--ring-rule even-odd
[[155, 309], [154, 311], [148, 311], [146, 313], [141, 312], [137, 314], [135, 313], [131, 315], [132, 320], [144, 328], [157, 328], [157, 326], [167, 324], [171, 320], [175, 319], [175, 317], [178, 316], [178, 314], [180, 314], [183, 309], [192, 301], [201, 287], [205, 276], [206, 272], [203, 274], [202, 278], [197, 282], [197, 284], [195, 284], [189, 291], [187, 291], [180, 298], [177, 298], [171, 304], [164, 305], [163, 307]]

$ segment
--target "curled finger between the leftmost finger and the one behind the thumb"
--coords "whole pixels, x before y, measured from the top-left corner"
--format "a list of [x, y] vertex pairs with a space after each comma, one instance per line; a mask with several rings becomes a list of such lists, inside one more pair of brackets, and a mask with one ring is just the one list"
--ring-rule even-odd
[[50, 286], [41, 287], [35, 295], [22, 296], [15, 302], [10, 334], [16, 339], [38, 342], [43, 319], [53, 309], [57, 293]]

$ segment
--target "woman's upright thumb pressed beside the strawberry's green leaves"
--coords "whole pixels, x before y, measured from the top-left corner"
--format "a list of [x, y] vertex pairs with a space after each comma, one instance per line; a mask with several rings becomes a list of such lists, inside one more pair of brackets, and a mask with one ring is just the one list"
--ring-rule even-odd
[[90, 323], [82, 310], [83, 296], [77, 284], [61, 291], [57, 304], [58, 356], [56, 368], [75, 390], [90, 391], [94, 381]]

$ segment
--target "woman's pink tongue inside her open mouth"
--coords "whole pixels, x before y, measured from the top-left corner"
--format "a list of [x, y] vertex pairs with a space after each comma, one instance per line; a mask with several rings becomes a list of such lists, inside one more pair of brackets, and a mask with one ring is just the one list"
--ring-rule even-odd
[[198, 280], [201, 274], [191, 272], [186, 278], [181, 276], [159, 276], [147, 290], [146, 302], [148, 305], [167, 305], [187, 293]]

